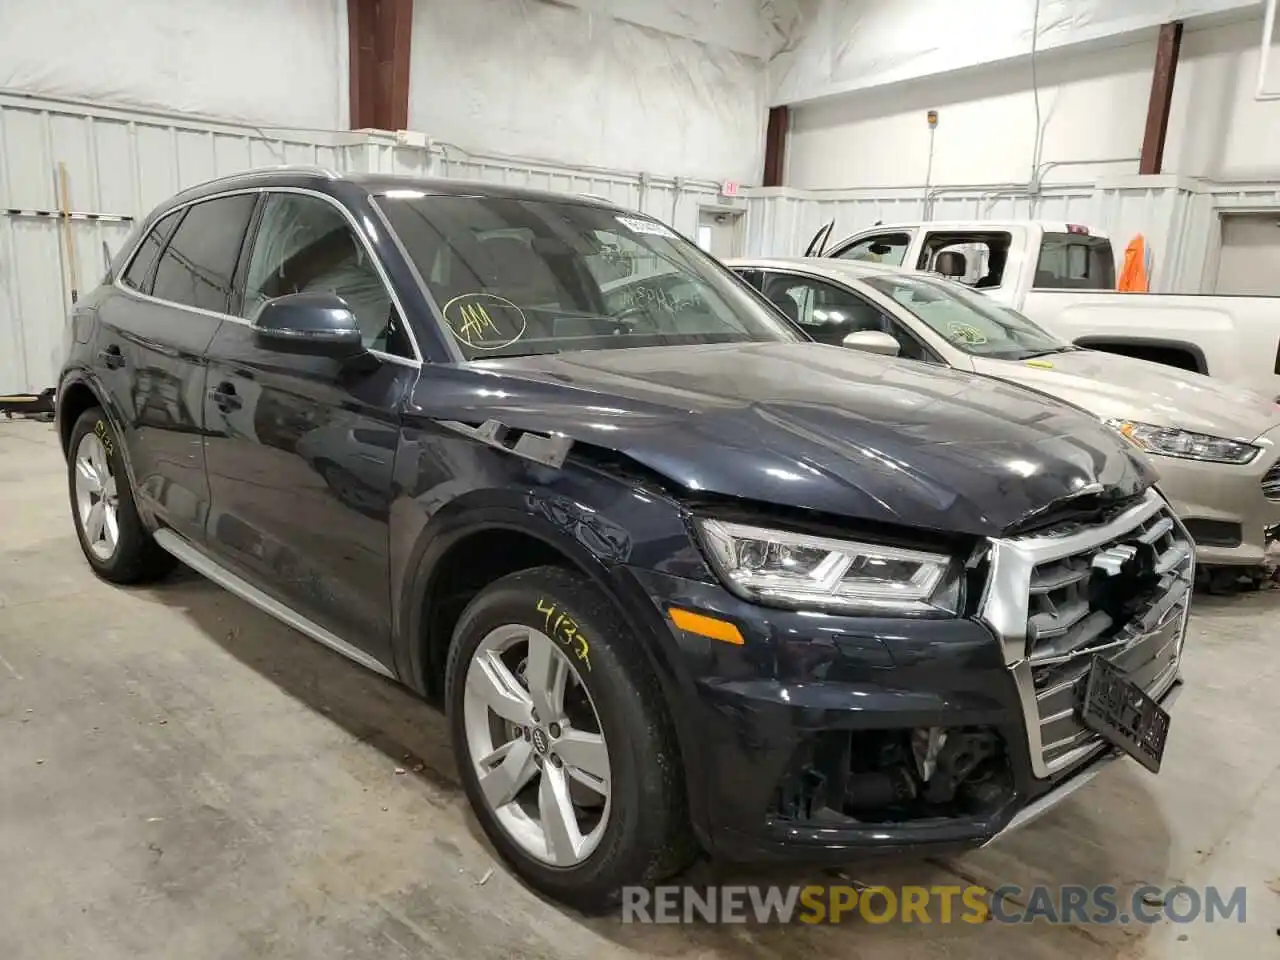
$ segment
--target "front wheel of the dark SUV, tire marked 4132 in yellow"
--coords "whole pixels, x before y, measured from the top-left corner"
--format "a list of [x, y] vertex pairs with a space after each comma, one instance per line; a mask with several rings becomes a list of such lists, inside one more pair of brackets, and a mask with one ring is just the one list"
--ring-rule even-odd
[[[548, 838], [552, 831], [543, 831], [541, 855], [531, 852], [539, 838], [524, 829], [520, 804], [502, 806], [499, 813], [500, 805], [490, 803], [481, 786], [476, 754], [485, 751], [490, 741], [476, 718], [484, 713], [490, 732], [498, 730], [492, 745], [504, 739], [503, 727], [509, 736], [511, 727], [492, 708], [475, 707], [477, 701], [485, 703], [476, 692], [490, 689], [484, 682], [471, 685], [468, 707], [468, 678], [483, 681], [492, 668], [493, 653], [507, 634], [527, 636], [532, 644], [530, 630], [541, 637], [536, 640], [539, 649], [545, 644], [552, 650], [550, 658], [558, 655], [570, 668], [562, 714], [566, 724], [559, 727], [562, 736], [557, 739], [558, 724], [539, 717], [541, 723], [535, 721], [525, 727], [524, 736], [511, 741], [516, 746], [506, 762], [518, 759], [517, 749], [534, 758], [536, 772], [520, 796], [525, 809], [536, 810], [539, 817], [545, 809], [545, 795], [554, 794], [552, 787], [557, 783], [570, 785], [573, 800], [582, 801], [582, 806], [573, 806], [576, 814], [582, 814], [577, 826], [585, 837], [576, 861], [563, 856], [559, 863], [552, 861], [556, 859]], [[527, 662], [538, 662], [532, 650], [532, 646], [524, 650], [526, 667]], [[518, 660], [520, 640], [503, 655], [507, 663], [513, 663], [512, 658]], [[518, 667], [512, 669], [516, 672]], [[657, 883], [691, 863], [698, 847], [689, 822], [685, 772], [657, 678], [613, 605], [584, 577], [557, 567], [539, 567], [485, 588], [463, 611], [453, 632], [445, 685], [449, 732], [467, 799], [498, 854], [531, 887], [584, 913], [602, 913], [618, 902], [622, 887]], [[530, 686], [517, 691], [526, 700]], [[584, 691], [589, 698], [585, 710]], [[513, 700], [507, 703], [507, 712], [522, 709]], [[572, 741], [593, 736], [593, 726], [603, 733], [608, 771], [608, 800], [595, 829], [591, 820], [599, 812], [600, 796], [579, 778], [589, 767], [598, 772], [598, 754], [590, 754], [591, 764], [576, 767], [572, 760], [588, 755], [570, 751]], [[548, 750], [540, 764], [539, 731], [541, 746]], [[520, 740], [525, 741], [522, 748]], [[559, 749], [566, 750], [563, 765], [553, 763]], [[563, 852], [567, 846], [561, 844], [558, 849]]]

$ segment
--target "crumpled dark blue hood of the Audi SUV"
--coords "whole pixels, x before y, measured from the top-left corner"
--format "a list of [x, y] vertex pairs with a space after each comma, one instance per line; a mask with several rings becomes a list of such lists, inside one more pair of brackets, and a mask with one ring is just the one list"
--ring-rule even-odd
[[424, 369], [411, 413], [559, 433], [687, 492], [997, 535], [1155, 472], [1064, 404], [814, 343], [582, 351]]

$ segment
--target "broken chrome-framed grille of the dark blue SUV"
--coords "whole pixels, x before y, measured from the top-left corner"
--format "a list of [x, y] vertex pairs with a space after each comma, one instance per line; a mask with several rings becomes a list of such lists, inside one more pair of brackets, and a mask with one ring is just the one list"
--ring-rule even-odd
[[[1139, 550], [1152, 563], [1142, 595], [1123, 608], [1102, 602], [1107, 577]], [[1119, 517], [992, 541], [982, 616], [1000, 636], [1018, 685], [1032, 768], [1048, 777], [1105, 745], [1075, 719], [1093, 655], [1129, 673], [1149, 695], [1174, 684], [1196, 564], [1187, 530], [1155, 490]], [[1117, 622], [1117, 611], [1123, 618]]]

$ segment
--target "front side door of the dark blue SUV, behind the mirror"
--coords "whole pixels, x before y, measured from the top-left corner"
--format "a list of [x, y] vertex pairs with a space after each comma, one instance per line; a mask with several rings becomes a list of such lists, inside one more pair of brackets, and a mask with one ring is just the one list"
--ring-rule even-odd
[[[246, 262], [242, 320], [209, 349], [210, 548], [389, 663], [392, 471], [417, 364], [372, 253], [335, 202], [269, 193]], [[367, 362], [257, 343], [251, 320], [265, 301], [321, 291], [352, 307], [375, 351]]]

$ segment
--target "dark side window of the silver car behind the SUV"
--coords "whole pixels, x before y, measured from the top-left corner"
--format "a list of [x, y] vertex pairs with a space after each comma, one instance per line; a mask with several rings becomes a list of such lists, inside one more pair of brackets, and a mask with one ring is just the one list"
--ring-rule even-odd
[[818, 343], [838, 347], [851, 333], [878, 330], [897, 340], [900, 357], [933, 360], [893, 317], [844, 287], [795, 274], [767, 273], [764, 296]]

